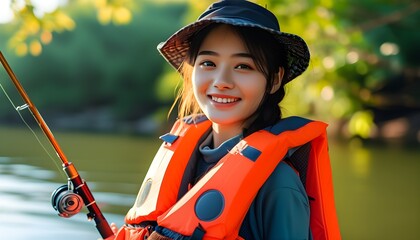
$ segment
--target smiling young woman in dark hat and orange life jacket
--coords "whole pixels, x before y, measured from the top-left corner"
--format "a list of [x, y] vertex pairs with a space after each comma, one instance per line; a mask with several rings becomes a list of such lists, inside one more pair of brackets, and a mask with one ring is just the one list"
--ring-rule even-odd
[[266, 8], [225, 0], [158, 49], [184, 79], [179, 120], [116, 239], [339, 238], [326, 125], [279, 108], [306, 43]]

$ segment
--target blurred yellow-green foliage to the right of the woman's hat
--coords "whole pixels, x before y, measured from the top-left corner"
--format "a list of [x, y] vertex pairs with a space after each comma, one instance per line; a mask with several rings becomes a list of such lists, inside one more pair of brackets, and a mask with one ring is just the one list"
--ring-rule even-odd
[[288, 113], [346, 122], [343, 134], [369, 138], [381, 121], [420, 111], [420, 2], [258, 2], [311, 50], [307, 72], [282, 105]]

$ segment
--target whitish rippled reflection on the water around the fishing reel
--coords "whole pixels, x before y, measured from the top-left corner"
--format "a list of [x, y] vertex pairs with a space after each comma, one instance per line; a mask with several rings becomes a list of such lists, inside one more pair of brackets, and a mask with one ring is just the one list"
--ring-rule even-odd
[[[13, 164], [0, 157], [0, 236], [1, 239], [97, 239], [99, 234], [86, 212], [64, 219], [54, 212], [50, 196], [62, 185], [51, 182], [56, 172], [39, 167]], [[95, 185], [95, 184], [93, 184]], [[126, 194], [95, 193], [102, 205], [124, 205], [134, 201]], [[121, 225], [123, 215], [104, 213], [109, 222]]]

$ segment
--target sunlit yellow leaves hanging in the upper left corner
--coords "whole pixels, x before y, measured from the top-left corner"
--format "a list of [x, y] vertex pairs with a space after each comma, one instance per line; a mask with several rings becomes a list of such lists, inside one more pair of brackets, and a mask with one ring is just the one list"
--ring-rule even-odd
[[[138, 3], [134, 0], [76, 0], [71, 5], [77, 8], [94, 7], [97, 19], [102, 24], [113, 23], [126, 25], [132, 20], [132, 11], [137, 9]], [[42, 44], [47, 45], [52, 40], [54, 32], [73, 30], [76, 26], [74, 19], [66, 11], [66, 8], [57, 8], [52, 12], [40, 13], [40, 10], [30, 0], [12, 0], [11, 9], [14, 13], [14, 28], [9, 44], [19, 56], [31, 54], [38, 56], [42, 52]]]

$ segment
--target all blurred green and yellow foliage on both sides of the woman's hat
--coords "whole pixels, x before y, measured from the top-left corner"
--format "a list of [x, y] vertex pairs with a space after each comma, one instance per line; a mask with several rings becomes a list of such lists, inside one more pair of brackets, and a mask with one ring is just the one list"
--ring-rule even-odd
[[[182, 81], [155, 47], [212, 2], [77, 0], [37, 16], [27, 0], [0, 37], [17, 55], [30, 54], [16, 72], [28, 74], [22, 79], [40, 106], [162, 118]], [[340, 134], [370, 138], [383, 121], [420, 111], [418, 1], [255, 2], [311, 50], [308, 70], [287, 86], [284, 115], [316, 115], [338, 123]]]

